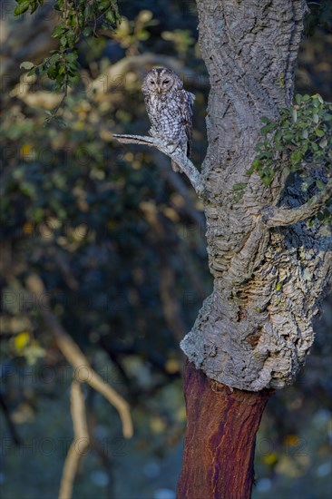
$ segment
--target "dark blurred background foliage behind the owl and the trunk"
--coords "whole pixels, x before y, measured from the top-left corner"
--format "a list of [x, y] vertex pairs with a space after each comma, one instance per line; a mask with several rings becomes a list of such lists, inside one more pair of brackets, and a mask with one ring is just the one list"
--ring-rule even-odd
[[[296, 90], [331, 102], [329, 2], [310, 3]], [[185, 411], [179, 341], [211, 289], [202, 207], [169, 160], [122, 147], [112, 133], [149, 129], [141, 84], [153, 65], [181, 74], [195, 93], [193, 156], [206, 149], [209, 79], [194, 1], [122, 0], [116, 32], [78, 45], [81, 80], [62, 100], [40, 64], [57, 48], [45, 4], [14, 17], [2, 2], [1, 428], [5, 499], [56, 496], [73, 438], [72, 369], [28, 293], [32, 272], [93, 367], [130, 402], [132, 440], [117, 412], [85, 387], [91, 448], [74, 497], [171, 499], [181, 466]], [[259, 429], [254, 498], [327, 498], [332, 492], [332, 301], [294, 386], [274, 396]]]

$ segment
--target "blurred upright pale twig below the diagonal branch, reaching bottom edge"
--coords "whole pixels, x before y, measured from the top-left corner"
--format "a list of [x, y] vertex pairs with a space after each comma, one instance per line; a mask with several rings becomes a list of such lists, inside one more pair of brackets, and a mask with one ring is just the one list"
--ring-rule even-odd
[[82, 456], [89, 446], [89, 433], [85, 418], [85, 403], [81, 383], [73, 380], [71, 387], [71, 413], [73, 419], [73, 442], [68, 449], [60, 483], [59, 499], [71, 499], [73, 481]]

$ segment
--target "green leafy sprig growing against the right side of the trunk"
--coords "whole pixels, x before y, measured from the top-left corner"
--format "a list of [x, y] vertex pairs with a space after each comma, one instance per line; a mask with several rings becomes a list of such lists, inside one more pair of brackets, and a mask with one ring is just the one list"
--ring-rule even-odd
[[[297, 215], [288, 213], [289, 220], [304, 217], [305, 211], [307, 217], [317, 215], [324, 222], [332, 218], [328, 209], [331, 201], [328, 180], [332, 164], [331, 121], [332, 104], [324, 102], [318, 93], [312, 96], [297, 94], [294, 105], [281, 109], [276, 122], [265, 116], [261, 118], [264, 123], [261, 129], [262, 139], [255, 147], [257, 155], [247, 174], [257, 172], [262, 183], [269, 187], [281, 165], [285, 177], [291, 172], [297, 172], [301, 191], [310, 191], [315, 194], [315, 200], [319, 200], [310, 201], [308, 196], [307, 209]], [[316, 178], [317, 167], [324, 171], [324, 181]], [[246, 187], [246, 182], [233, 186], [235, 201], [241, 199]], [[321, 200], [324, 200], [324, 204]], [[276, 207], [274, 210], [277, 210]], [[283, 216], [286, 224], [285, 213]], [[276, 223], [277, 219], [276, 215]], [[272, 225], [272, 220], [269, 224]]]

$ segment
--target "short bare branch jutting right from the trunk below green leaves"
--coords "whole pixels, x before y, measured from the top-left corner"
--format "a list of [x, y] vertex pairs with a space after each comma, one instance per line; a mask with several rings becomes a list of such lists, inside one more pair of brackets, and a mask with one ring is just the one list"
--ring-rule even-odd
[[285, 227], [300, 220], [313, 217], [332, 195], [332, 180], [323, 191], [313, 196], [298, 208], [277, 208], [269, 206], [263, 212], [262, 220], [268, 227]]

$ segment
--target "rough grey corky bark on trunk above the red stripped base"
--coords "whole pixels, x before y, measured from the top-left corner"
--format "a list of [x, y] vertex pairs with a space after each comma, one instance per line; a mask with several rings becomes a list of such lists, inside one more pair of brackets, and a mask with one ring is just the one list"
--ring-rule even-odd
[[[312, 318], [331, 283], [332, 236], [306, 221], [290, 225], [291, 216], [289, 225], [269, 227], [263, 210], [297, 208], [302, 194], [296, 183], [285, 189], [281, 173], [267, 189], [245, 172], [255, 157], [260, 117], [273, 119], [292, 103], [306, 4], [197, 5], [200, 49], [210, 73], [210, 145], [202, 182], [214, 289], [181, 347], [197, 368], [227, 386], [281, 388], [294, 380], [313, 342]], [[238, 182], [248, 186], [235, 202]]]

